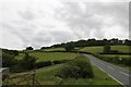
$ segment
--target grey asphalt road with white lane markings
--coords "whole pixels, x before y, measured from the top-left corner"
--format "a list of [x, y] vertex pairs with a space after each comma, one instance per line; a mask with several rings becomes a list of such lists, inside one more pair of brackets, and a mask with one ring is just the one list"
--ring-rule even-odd
[[102, 61], [91, 54], [85, 54], [85, 55], [91, 60], [91, 63], [93, 65], [98, 66], [102, 71], [110, 75], [114, 79], [119, 82], [121, 85], [128, 85], [128, 86], [131, 85], [131, 84], [129, 85], [129, 79], [131, 79], [131, 76], [129, 75], [128, 70], [123, 70], [121, 67], [118, 67], [105, 61]]

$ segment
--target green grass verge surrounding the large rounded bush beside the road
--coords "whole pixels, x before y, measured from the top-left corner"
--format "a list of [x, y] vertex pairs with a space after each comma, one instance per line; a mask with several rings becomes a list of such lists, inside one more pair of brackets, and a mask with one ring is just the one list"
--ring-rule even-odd
[[120, 85], [119, 83], [114, 80], [111, 77], [109, 77], [106, 73], [102, 72], [96, 66], [93, 66], [93, 71], [95, 74], [95, 77], [93, 79], [87, 79], [87, 78], [62, 79], [62, 78], [55, 77], [55, 73], [58, 71], [60, 66], [62, 66], [62, 64], [50, 66], [48, 69], [40, 69], [41, 72], [36, 73], [36, 78], [43, 85], [58, 85], [58, 84], [60, 85]]

